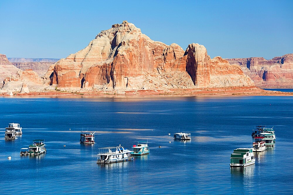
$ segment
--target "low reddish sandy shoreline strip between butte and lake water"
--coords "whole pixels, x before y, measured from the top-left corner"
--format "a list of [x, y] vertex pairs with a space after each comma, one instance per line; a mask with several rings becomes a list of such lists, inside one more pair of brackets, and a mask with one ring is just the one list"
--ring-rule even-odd
[[168, 90], [132, 90], [132, 91], [93, 91], [82, 90], [76, 92], [43, 91], [19, 93], [11, 96], [2, 93], [0, 96], [293, 96], [293, 92], [280, 92], [260, 89], [258, 87], [226, 87], [226, 88], [193, 88]]

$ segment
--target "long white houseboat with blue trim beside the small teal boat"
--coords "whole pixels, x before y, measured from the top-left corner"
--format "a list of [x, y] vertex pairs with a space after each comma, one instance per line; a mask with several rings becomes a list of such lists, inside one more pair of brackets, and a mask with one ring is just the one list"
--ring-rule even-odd
[[134, 151], [124, 149], [122, 146], [99, 148], [98, 164], [117, 163], [134, 160]]

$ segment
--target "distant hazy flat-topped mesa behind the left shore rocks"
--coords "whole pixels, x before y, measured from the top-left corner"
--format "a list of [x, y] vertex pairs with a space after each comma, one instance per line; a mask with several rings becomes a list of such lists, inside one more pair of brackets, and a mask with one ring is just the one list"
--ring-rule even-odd
[[8, 58], [12, 65], [21, 70], [32, 69], [40, 77], [44, 76], [48, 68], [59, 59], [52, 58]]

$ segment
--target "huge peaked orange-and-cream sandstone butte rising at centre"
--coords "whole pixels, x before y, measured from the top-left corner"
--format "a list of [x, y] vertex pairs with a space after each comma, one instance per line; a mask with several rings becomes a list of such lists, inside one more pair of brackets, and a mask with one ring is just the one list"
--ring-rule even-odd
[[203, 45], [184, 51], [173, 43], [151, 40], [132, 23], [112, 25], [86, 48], [51, 65], [44, 77], [52, 87], [95, 90], [161, 90], [250, 87], [239, 65], [211, 59]]

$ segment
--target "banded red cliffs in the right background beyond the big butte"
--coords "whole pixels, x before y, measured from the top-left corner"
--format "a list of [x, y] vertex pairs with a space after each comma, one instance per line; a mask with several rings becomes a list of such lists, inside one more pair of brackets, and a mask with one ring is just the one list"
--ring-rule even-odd
[[227, 59], [230, 64], [240, 65], [258, 87], [293, 87], [293, 54], [264, 58]]

